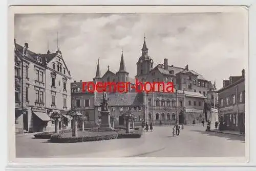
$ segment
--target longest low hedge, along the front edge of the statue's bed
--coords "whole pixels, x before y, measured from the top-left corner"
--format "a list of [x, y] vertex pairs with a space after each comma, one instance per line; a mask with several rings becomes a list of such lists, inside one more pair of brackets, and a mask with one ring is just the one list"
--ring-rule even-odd
[[78, 137], [65, 137], [63, 136], [63, 134], [53, 134], [51, 136], [50, 142], [74, 143], [74, 142], [108, 140], [108, 139], [115, 139], [117, 137], [118, 137], [117, 132], [110, 132], [109, 134], [103, 134], [103, 135], [82, 135]]

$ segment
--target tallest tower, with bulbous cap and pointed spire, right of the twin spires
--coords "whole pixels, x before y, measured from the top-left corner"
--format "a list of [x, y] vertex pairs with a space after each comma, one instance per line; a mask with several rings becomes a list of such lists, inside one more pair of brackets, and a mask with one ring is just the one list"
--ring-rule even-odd
[[144, 81], [148, 73], [153, 69], [153, 60], [148, 55], [148, 48], [146, 45], [146, 38], [144, 37], [144, 43], [141, 49], [141, 57], [139, 58], [137, 64], [137, 78], [139, 81]]

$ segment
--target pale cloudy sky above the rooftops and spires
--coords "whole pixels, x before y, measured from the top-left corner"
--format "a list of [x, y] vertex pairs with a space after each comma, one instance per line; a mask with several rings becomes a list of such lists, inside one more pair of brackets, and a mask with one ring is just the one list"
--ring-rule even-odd
[[[101, 75], [110, 65], [118, 71], [123, 48], [130, 77], [146, 35], [154, 66], [168, 58], [169, 65], [193, 69], [207, 80], [241, 75], [246, 66], [245, 18], [239, 13], [183, 14], [18, 14], [16, 42], [35, 53], [57, 50], [69, 67], [73, 80], [90, 81], [100, 59]], [[49, 43], [48, 43], [49, 42]]]

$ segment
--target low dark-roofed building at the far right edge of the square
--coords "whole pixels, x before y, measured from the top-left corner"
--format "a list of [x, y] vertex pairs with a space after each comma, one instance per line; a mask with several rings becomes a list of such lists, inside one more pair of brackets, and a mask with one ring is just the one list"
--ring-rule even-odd
[[245, 130], [245, 82], [242, 76], [230, 76], [223, 80], [219, 93], [219, 120], [225, 122], [224, 129]]

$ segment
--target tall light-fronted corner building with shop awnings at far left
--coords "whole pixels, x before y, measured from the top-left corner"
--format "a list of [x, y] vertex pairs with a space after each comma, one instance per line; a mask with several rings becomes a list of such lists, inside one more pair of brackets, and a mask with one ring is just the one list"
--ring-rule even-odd
[[[52, 112], [66, 116], [70, 109], [70, 71], [59, 50], [56, 53], [36, 54], [29, 50], [28, 43], [25, 46], [14, 44], [16, 131], [53, 130]], [[69, 116], [61, 119], [59, 129], [71, 125]]]

